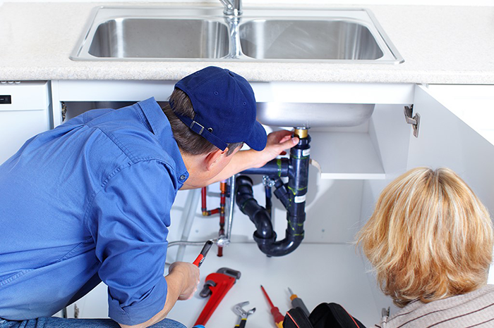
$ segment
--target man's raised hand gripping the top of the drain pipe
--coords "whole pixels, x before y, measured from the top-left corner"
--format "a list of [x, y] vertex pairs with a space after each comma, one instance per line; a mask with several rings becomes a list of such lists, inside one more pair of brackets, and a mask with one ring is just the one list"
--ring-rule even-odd
[[293, 132], [288, 130], [279, 130], [267, 135], [266, 148], [263, 151], [255, 151], [250, 168], [260, 168], [279, 155], [284, 155], [286, 149], [291, 149], [299, 143], [299, 138], [291, 137]]

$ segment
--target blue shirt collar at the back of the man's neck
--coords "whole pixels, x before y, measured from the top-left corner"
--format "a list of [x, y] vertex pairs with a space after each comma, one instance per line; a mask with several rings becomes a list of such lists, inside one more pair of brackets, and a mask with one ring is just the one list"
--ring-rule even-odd
[[[151, 132], [155, 134], [159, 144], [174, 160], [176, 165], [176, 177], [179, 180], [179, 183], [183, 184], [188, 178], [188, 172], [185, 163], [183, 163], [179, 146], [177, 146], [173, 137], [173, 132], [171, 132], [171, 126], [167, 115], [164, 115], [162, 108], [159, 107], [154, 97], [146, 99], [145, 101], [139, 101], [137, 104], [145, 115], [147, 123], [149, 124], [148, 127], [151, 128]], [[173, 140], [173, 142], [170, 142], [171, 140]]]

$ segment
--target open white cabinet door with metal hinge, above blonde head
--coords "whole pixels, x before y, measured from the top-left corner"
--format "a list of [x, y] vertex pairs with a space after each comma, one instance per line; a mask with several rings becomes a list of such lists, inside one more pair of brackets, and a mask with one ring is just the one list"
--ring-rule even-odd
[[[447, 167], [457, 172], [494, 213], [494, 145], [417, 86], [414, 113], [421, 115], [418, 138], [411, 135], [407, 169]], [[493, 273], [491, 267], [490, 273]], [[490, 277], [489, 283], [494, 283]]]

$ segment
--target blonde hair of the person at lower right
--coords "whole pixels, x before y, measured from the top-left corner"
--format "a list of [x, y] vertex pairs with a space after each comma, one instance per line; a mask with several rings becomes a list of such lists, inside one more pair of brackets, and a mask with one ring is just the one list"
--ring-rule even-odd
[[452, 170], [415, 168], [382, 191], [356, 244], [382, 291], [403, 307], [486, 284], [493, 227], [488, 210]]

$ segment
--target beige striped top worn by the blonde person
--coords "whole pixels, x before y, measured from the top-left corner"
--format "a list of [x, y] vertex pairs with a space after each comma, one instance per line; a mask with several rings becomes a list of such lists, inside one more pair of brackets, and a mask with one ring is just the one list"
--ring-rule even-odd
[[430, 303], [413, 301], [375, 327], [494, 327], [494, 285]]

